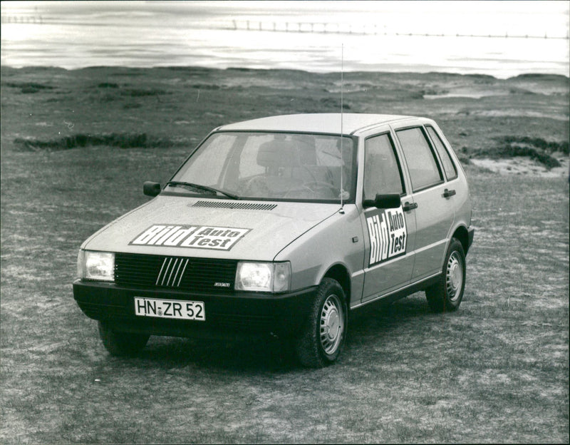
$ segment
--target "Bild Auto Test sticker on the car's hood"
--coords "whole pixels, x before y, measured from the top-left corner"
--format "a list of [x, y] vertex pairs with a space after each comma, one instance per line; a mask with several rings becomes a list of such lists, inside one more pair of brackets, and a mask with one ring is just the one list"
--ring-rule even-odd
[[230, 250], [249, 230], [209, 225], [155, 224], [137, 235], [129, 245]]

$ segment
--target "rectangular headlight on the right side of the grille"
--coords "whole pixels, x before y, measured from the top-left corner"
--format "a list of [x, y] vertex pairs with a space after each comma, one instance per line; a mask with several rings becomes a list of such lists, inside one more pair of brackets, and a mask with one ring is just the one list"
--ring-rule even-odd
[[285, 292], [289, 290], [290, 262], [238, 262], [235, 290]]

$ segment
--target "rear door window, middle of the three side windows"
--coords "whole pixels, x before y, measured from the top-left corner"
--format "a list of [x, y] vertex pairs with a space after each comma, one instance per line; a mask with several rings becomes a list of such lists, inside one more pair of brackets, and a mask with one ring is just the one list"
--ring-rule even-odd
[[416, 192], [442, 182], [443, 176], [435, 154], [421, 128], [396, 131], [410, 170], [412, 188]]

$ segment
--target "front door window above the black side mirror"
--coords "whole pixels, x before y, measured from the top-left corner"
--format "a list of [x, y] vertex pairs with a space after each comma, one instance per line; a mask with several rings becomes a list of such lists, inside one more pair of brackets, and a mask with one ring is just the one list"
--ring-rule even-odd
[[364, 199], [374, 199], [377, 193], [404, 193], [400, 165], [388, 134], [366, 139], [364, 153]]

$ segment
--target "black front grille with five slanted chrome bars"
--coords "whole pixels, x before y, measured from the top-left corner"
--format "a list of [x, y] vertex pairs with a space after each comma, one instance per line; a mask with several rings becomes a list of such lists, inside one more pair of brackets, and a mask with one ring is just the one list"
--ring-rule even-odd
[[115, 254], [115, 282], [129, 287], [231, 292], [236, 269], [237, 260]]

